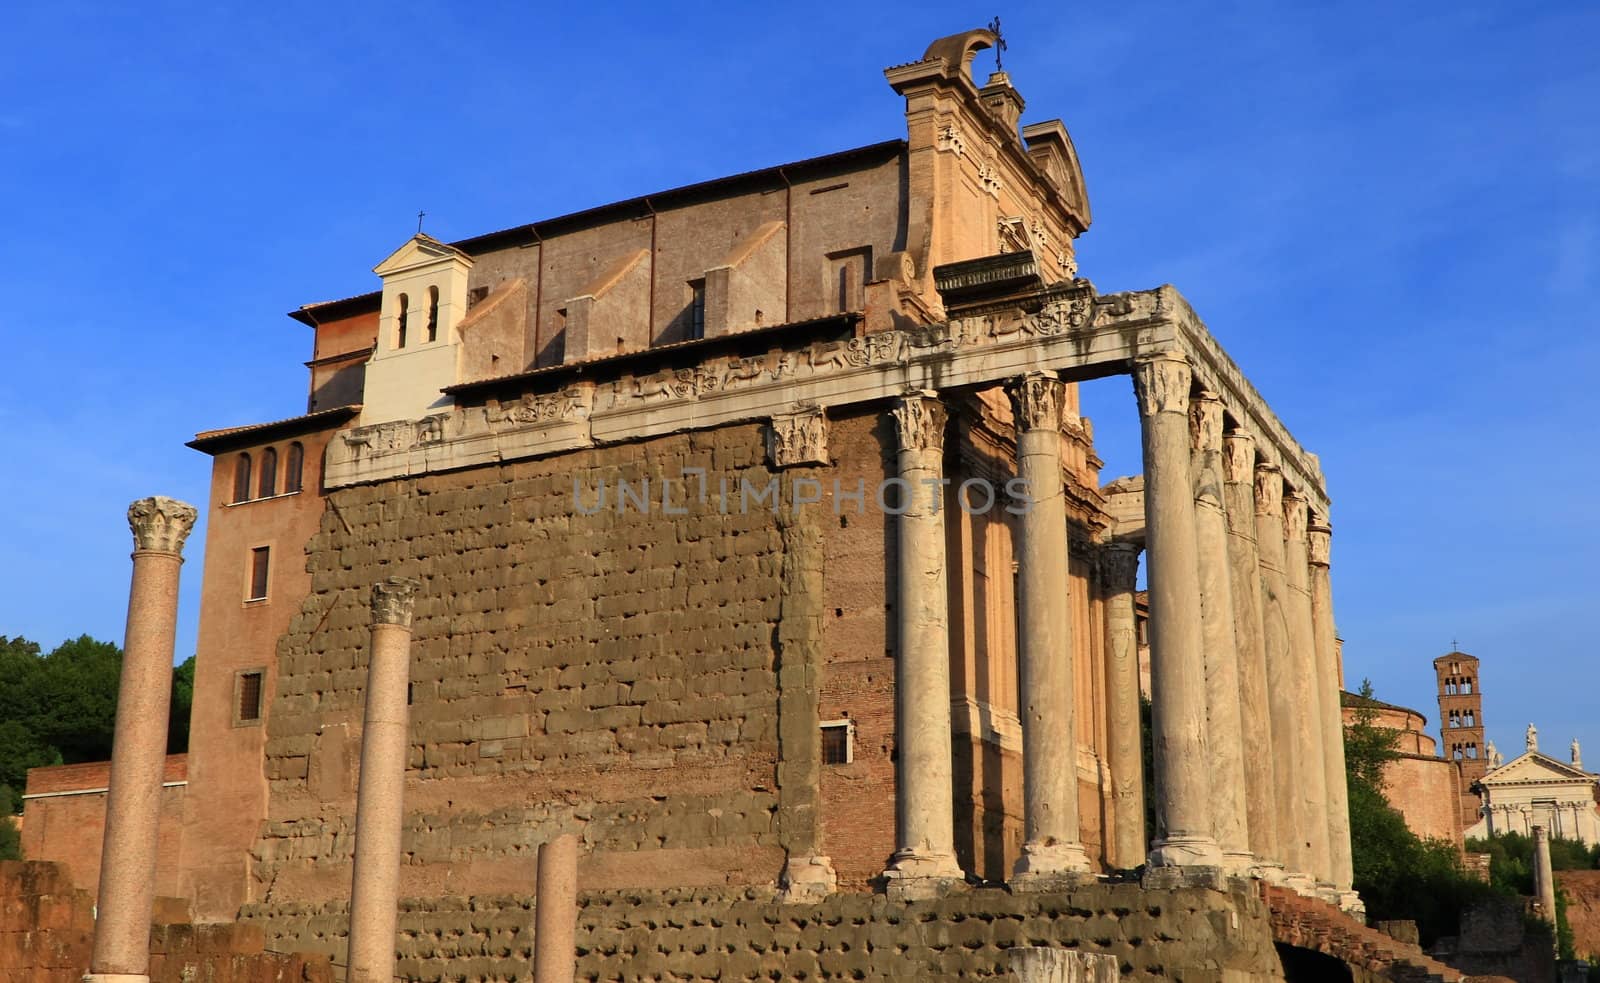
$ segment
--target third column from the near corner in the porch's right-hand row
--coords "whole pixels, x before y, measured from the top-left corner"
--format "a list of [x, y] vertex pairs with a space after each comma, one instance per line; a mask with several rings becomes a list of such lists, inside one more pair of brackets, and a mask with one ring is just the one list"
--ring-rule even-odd
[[1229, 431], [1222, 439], [1222, 495], [1227, 503], [1227, 565], [1234, 594], [1234, 642], [1238, 650], [1240, 736], [1245, 754], [1245, 815], [1256, 876], [1280, 882], [1277, 788], [1272, 775], [1272, 714], [1267, 698], [1267, 650], [1261, 636], [1261, 565], [1256, 560], [1256, 439]]

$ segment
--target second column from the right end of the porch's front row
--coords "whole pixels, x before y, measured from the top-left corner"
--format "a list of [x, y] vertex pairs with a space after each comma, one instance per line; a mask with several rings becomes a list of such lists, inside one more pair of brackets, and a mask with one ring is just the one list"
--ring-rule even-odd
[[1306, 700], [1299, 704], [1298, 736], [1302, 748], [1299, 775], [1301, 794], [1307, 799], [1307, 839], [1310, 841], [1310, 871], [1320, 892], [1336, 900], [1333, 892], [1333, 847], [1328, 841], [1328, 732], [1323, 725], [1323, 679], [1317, 666], [1317, 629], [1310, 610], [1310, 556], [1306, 543], [1309, 511], [1306, 496], [1299, 492], [1283, 495], [1283, 580], [1288, 586], [1290, 652], [1294, 671], [1304, 677]]

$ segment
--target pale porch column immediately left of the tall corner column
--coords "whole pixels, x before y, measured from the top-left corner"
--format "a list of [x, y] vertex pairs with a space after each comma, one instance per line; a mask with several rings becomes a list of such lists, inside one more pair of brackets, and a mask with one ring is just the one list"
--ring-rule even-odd
[[1018, 475], [1027, 482], [1019, 517], [1018, 663], [1022, 703], [1026, 836], [1013, 876], [1056, 881], [1085, 873], [1078, 834], [1078, 740], [1074, 727], [1072, 620], [1067, 610], [1067, 506], [1061, 485], [1066, 384], [1029, 373], [1010, 387]]

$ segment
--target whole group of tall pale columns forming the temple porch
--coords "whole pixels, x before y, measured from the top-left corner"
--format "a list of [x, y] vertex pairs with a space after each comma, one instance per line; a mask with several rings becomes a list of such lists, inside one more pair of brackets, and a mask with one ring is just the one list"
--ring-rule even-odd
[[[1144, 456], [1152, 760], [1142, 760], [1134, 578], [1139, 543], [1099, 548], [1106, 631], [1106, 764], [1114, 866], [1176, 876], [1254, 876], [1346, 908], [1350, 833], [1330, 584], [1330, 535], [1224, 400], [1197, 391], [1176, 352], [1133, 363]], [[1018, 664], [1026, 841], [1013, 885], [1086, 876], [1078, 829], [1067, 520], [1066, 383], [1010, 381], [1018, 475]], [[926, 897], [960, 879], [952, 825], [949, 612], [944, 533], [922, 493], [946, 480], [944, 407], [910, 392], [893, 407], [899, 517], [899, 828], [891, 893]], [[1232, 426], [1230, 426], [1232, 424]], [[1144, 837], [1142, 768], [1155, 776]], [[1214, 874], [1213, 874], [1214, 871]], [[1171, 876], [1166, 874], [1166, 876]]]

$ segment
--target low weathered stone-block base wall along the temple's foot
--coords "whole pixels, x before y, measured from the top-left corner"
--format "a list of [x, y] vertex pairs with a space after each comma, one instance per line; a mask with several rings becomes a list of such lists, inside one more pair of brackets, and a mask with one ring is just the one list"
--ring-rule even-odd
[[[581, 897], [581, 980], [1008, 980], [1006, 949], [1110, 953], [1130, 980], [1282, 980], [1256, 895], [1101, 884], [1069, 893], [962, 892], [898, 903], [840, 893], [778, 905], [763, 889], [594, 892]], [[248, 906], [272, 945], [336, 953], [344, 909]], [[410, 980], [526, 978], [533, 897], [408, 901], [400, 964]]]

